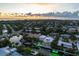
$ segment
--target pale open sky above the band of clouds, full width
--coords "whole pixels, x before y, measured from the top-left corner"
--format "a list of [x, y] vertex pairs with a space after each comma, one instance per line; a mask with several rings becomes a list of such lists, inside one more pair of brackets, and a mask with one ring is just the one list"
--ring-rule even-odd
[[1, 12], [48, 13], [74, 12], [79, 10], [79, 3], [0, 3]]

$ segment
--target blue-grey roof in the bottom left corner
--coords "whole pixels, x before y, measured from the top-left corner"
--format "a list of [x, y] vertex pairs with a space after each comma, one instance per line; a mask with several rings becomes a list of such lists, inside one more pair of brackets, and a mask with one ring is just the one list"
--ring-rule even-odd
[[0, 48], [0, 56], [21, 56], [21, 54], [16, 51], [16, 48], [3, 47]]

